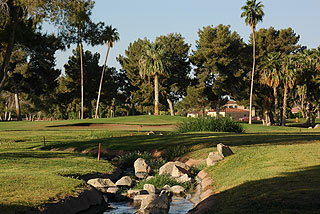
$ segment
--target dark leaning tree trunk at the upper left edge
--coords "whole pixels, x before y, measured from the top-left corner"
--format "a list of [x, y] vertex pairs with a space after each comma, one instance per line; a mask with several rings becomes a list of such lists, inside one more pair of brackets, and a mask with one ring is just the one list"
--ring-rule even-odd
[[[11, 13], [11, 12], [10, 12]], [[8, 43], [7, 43], [7, 48], [6, 48], [6, 53], [4, 55], [4, 59], [3, 59], [3, 63], [1, 66], [1, 73], [0, 73], [0, 77], [2, 76], [2, 80], [0, 82], [0, 92], [2, 91], [4, 85], [6, 84], [7, 80], [8, 80], [8, 69], [9, 69], [9, 64], [10, 64], [10, 58], [11, 58], [11, 54], [13, 51], [13, 47], [14, 47], [14, 40], [15, 40], [15, 33], [16, 33], [16, 29], [17, 29], [17, 22], [18, 22], [18, 16], [19, 16], [19, 9], [17, 7], [14, 7], [14, 9], [12, 10], [12, 19], [10, 21], [10, 31], [9, 31], [9, 39], [8, 39]]]

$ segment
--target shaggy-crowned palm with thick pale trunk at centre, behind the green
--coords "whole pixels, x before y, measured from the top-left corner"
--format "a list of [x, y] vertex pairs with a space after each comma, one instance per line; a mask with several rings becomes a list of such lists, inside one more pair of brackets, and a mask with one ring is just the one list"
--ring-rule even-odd
[[159, 75], [166, 72], [165, 61], [165, 51], [157, 42], [147, 44], [139, 60], [140, 76], [154, 77], [154, 115], [159, 115]]

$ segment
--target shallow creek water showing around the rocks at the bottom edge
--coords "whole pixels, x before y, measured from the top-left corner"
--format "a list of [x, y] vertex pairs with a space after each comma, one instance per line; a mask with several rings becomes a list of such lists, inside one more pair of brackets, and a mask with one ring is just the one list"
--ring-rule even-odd
[[[104, 214], [133, 214], [138, 210], [138, 207], [134, 207], [130, 202], [110, 202], [109, 204], [114, 209], [107, 210]], [[187, 198], [172, 197], [169, 214], [185, 214], [192, 208], [193, 203]]]

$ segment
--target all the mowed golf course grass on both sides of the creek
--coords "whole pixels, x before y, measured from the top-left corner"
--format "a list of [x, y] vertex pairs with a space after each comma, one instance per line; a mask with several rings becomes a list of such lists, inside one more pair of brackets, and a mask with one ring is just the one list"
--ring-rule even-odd
[[[83, 181], [65, 175], [111, 172], [108, 162], [81, 153], [96, 151], [99, 143], [106, 152], [183, 146], [197, 159], [206, 158], [218, 143], [224, 143], [235, 155], [208, 169], [214, 180], [215, 204], [219, 204], [213, 205], [214, 213], [319, 213], [320, 130], [244, 124], [246, 133], [242, 134], [177, 134], [169, 132], [174, 126], [164, 127], [183, 119], [137, 116], [0, 122], [0, 211], [37, 207], [85, 188]], [[119, 130], [92, 123], [142, 127], [138, 133], [137, 127]], [[156, 135], [145, 135], [148, 125], [153, 125]]]

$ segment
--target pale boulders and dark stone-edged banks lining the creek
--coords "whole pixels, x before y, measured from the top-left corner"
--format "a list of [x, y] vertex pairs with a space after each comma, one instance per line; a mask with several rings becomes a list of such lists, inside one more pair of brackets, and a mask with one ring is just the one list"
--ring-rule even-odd
[[[232, 155], [232, 150], [223, 144], [217, 145], [217, 152], [209, 153], [205, 160], [207, 166], [212, 166], [218, 161]], [[190, 201], [196, 207], [189, 213], [203, 213], [210, 209], [213, 194], [210, 176], [200, 171], [196, 177], [192, 176], [191, 167], [199, 164], [200, 160], [188, 160], [186, 163], [180, 161], [167, 162], [159, 168], [159, 175], [167, 175], [179, 183], [190, 182], [197, 184]], [[88, 189], [80, 192], [78, 197], [68, 197], [56, 204], [47, 204], [39, 208], [38, 213], [87, 213], [92, 206], [98, 207], [95, 213], [103, 212], [108, 208], [110, 201], [132, 200], [138, 207], [137, 213], [167, 214], [170, 209], [172, 196], [186, 196], [186, 189], [181, 185], [164, 185], [160, 189], [152, 184], [145, 184], [143, 189], [132, 189], [135, 183], [153, 179], [153, 169], [147, 161], [138, 158], [134, 162], [134, 175], [120, 177], [121, 170], [116, 170], [113, 175], [91, 174], [82, 176], [87, 181]], [[119, 179], [120, 178], [120, 179]]]

